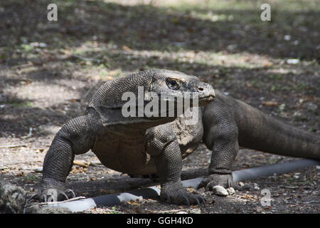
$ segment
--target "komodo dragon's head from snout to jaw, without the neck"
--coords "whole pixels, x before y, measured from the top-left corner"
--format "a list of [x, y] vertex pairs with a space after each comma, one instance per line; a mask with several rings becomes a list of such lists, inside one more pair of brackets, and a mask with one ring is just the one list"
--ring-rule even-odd
[[196, 76], [168, 70], [151, 70], [149, 75], [151, 82], [145, 97], [154, 101], [153, 108], [158, 104], [157, 110], [153, 109], [157, 116], [178, 117], [188, 108], [206, 105], [215, 98], [213, 87]]

